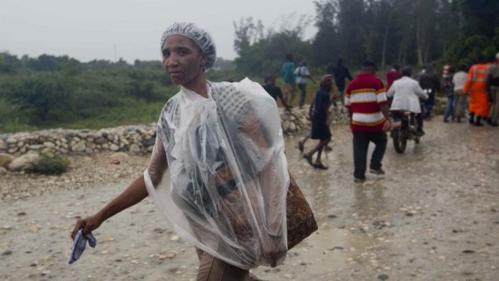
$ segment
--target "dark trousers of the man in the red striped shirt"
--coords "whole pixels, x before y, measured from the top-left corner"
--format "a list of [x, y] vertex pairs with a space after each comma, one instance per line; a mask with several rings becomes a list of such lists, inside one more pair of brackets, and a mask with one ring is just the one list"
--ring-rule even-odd
[[387, 133], [361, 133], [354, 132], [354, 177], [365, 178], [365, 169], [367, 163], [367, 149], [369, 142], [373, 142], [376, 147], [371, 156], [371, 169], [381, 169], [381, 161], [387, 149]]

